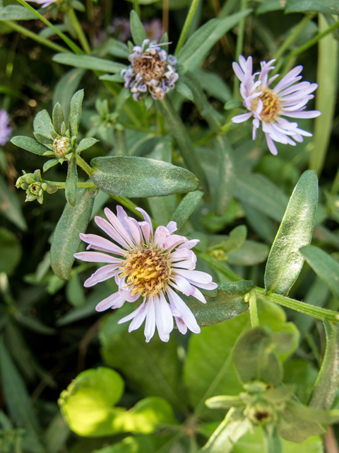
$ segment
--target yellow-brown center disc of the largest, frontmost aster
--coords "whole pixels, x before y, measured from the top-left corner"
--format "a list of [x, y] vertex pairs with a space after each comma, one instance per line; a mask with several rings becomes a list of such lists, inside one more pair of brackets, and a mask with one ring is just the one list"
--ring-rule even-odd
[[171, 276], [168, 253], [149, 248], [128, 253], [120, 269], [121, 277], [127, 277], [126, 282], [133, 284], [132, 296], [151, 297], [164, 291]]

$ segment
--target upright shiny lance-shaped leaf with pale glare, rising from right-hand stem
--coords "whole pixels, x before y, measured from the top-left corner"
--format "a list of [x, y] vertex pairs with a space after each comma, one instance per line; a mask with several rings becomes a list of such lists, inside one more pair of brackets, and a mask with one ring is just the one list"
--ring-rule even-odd
[[304, 264], [299, 248], [311, 242], [318, 203], [318, 179], [313, 170], [299, 179], [270, 249], [265, 272], [266, 291], [287, 295]]

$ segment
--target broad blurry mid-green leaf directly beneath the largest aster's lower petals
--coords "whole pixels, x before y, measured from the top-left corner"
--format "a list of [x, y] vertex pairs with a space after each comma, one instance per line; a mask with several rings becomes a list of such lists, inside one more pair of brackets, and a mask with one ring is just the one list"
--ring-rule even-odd
[[165, 398], [175, 408], [186, 411], [186, 398], [180, 384], [181, 364], [174, 337], [163, 343], [154, 336], [150, 343], [145, 343], [141, 328], [129, 333], [126, 324], [117, 324], [124, 316], [121, 310], [107, 316], [100, 327], [103, 359], [109, 367], [121, 371], [134, 389], [146, 396]]

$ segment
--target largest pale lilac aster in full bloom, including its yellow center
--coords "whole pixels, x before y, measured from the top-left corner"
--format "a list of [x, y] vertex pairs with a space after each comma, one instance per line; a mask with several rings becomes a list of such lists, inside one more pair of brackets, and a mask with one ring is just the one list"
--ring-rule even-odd
[[158, 226], [153, 234], [147, 212], [138, 207], [136, 210], [143, 214], [144, 222], [128, 217], [121, 206], [117, 207], [117, 215], [105, 208], [109, 222], [95, 217], [97, 226], [115, 242], [96, 234], [80, 235], [89, 244], [87, 250], [93, 248], [96, 251], [76, 253], [74, 256], [83, 261], [107, 263], [93, 273], [84, 286], [91, 287], [114, 277], [119, 287], [118, 292], [97, 304], [96, 310], [117, 309], [124, 302], [135, 302], [142, 297], [141, 305], [119, 321], [132, 320], [129, 332], [139, 328], [145, 320], [146, 342], [153, 337], [155, 326], [160, 339], [168, 341], [174, 317], [181, 333], [186, 333], [187, 328], [200, 333], [194, 314], [174, 291], [177, 289], [205, 304], [206, 299], [197, 287], [215, 289], [218, 286], [209, 274], [194, 270], [196, 255], [191, 248], [199, 241], [173, 234], [177, 230], [175, 222]]

